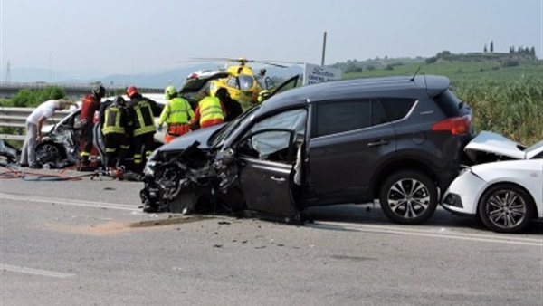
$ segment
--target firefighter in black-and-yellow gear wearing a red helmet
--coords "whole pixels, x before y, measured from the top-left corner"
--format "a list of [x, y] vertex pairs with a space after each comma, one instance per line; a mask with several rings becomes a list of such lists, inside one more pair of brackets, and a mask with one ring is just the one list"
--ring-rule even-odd
[[[151, 155], [155, 146], [155, 113], [160, 114], [157, 102], [143, 97], [138, 89], [130, 86], [127, 89], [130, 101], [127, 103], [129, 127], [131, 130], [130, 146], [134, 151], [134, 171], [141, 173], [145, 160]], [[143, 153], [145, 158], [143, 159]]]

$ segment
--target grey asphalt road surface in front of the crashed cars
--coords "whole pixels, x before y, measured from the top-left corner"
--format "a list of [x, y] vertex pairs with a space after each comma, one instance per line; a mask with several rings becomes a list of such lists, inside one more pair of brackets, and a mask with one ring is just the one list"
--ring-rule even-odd
[[373, 205], [305, 226], [144, 214], [141, 186], [0, 179], [0, 305], [543, 305], [541, 223], [495, 234], [438, 209], [396, 225]]

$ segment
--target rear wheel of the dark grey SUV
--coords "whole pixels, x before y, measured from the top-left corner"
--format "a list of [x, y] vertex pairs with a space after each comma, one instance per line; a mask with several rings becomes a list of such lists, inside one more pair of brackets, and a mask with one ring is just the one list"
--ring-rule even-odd
[[428, 220], [437, 207], [437, 187], [416, 170], [402, 170], [386, 177], [379, 191], [381, 209], [392, 221], [416, 225]]

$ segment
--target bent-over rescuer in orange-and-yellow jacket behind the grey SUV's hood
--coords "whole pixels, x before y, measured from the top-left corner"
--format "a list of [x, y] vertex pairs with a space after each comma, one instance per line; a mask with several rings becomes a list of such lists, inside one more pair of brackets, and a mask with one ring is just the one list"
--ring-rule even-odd
[[190, 120], [192, 129], [197, 129], [198, 125], [204, 129], [215, 124], [221, 124], [226, 117], [226, 109], [223, 102], [214, 96], [207, 96], [198, 102], [195, 110], [195, 118]]

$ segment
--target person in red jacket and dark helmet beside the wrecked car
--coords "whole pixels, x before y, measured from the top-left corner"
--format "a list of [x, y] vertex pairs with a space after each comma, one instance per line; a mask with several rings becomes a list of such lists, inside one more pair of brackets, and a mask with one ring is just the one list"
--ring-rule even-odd
[[90, 150], [92, 150], [92, 128], [94, 127], [94, 113], [100, 109], [100, 100], [106, 95], [103, 86], [95, 87], [90, 94], [86, 95], [81, 105], [81, 166], [88, 167], [90, 164]]

